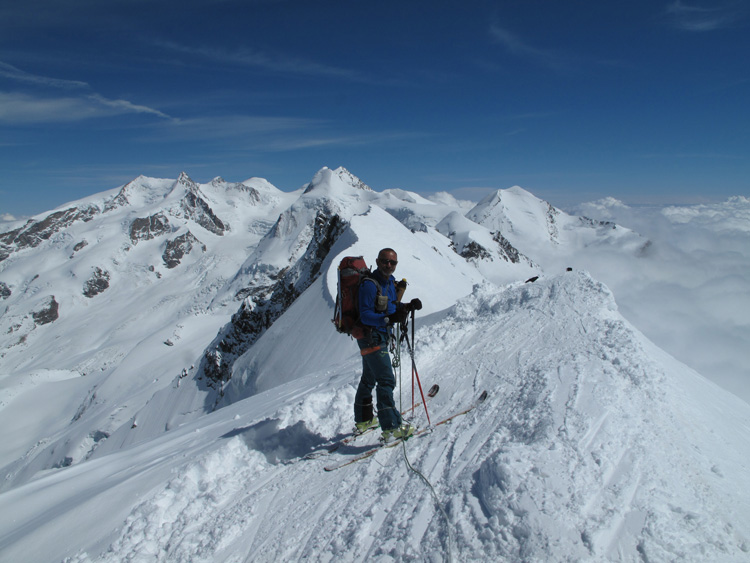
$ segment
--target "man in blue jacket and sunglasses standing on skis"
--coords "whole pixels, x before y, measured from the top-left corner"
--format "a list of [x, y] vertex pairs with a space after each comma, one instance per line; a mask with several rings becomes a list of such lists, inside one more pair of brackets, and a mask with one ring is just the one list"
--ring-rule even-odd
[[[414, 433], [413, 426], [403, 423], [393, 400], [396, 376], [388, 355], [391, 327], [404, 322], [410, 311], [421, 309], [422, 302], [419, 299], [412, 299], [408, 304], [397, 302], [393, 272], [398, 256], [392, 248], [381, 250], [376, 264], [372, 279], [363, 281], [359, 288], [359, 314], [365, 336], [357, 340], [362, 354], [362, 378], [354, 397], [354, 422], [359, 432], [379, 422], [383, 430], [381, 439], [387, 443], [397, 438], [406, 439]], [[377, 418], [372, 409], [373, 389], [377, 396]]]

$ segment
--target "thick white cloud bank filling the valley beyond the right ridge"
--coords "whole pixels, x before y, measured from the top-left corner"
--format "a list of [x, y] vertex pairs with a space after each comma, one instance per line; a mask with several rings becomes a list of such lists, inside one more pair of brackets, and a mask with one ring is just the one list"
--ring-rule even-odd
[[575, 212], [652, 241], [643, 257], [600, 256], [590, 270], [657, 345], [750, 402], [750, 199], [630, 207], [607, 198]]

